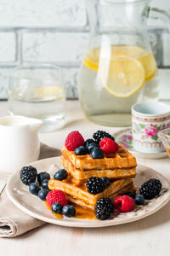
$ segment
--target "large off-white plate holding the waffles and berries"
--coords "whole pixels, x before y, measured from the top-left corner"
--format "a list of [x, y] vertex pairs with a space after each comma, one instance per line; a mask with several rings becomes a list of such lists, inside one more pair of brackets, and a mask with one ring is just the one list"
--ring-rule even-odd
[[[39, 160], [31, 163], [31, 166], [35, 166], [37, 168], [37, 172], [48, 172], [49, 169], [53, 169], [54, 164], [61, 167], [60, 157]], [[19, 207], [20, 210], [26, 212], [34, 218], [39, 218], [45, 222], [63, 226], [97, 228], [133, 222], [140, 218], [149, 216], [150, 214], [161, 209], [161, 207], [165, 206], [167, 201], [170, 199], [170, 185], [166, 177], [163, 177], [160, 173], [146, 166], [138, 166], [137, 176], [134, 179], [134, 183], [136, 187], [139, 188], [140, 185], [150, 177], [155, 177], [161, 180], [162, 189], [160, 196], [152, 201], [148, 201], [144, 207], [138, 207], [136, 211], [120, 213], [115, 218], [107, 219], [105, 221], [66, 217], [55, 218], [47, 207], [45, 207], [44, 202], [41, 201], [37, 196], [31, 195], [31, 193], [28, 191], [28, 186], [21, 183], [20, 172], [14, 172], [14, 174], [9, 178], [7, 184], [7, 194], [9, 199], [16, 207]]]

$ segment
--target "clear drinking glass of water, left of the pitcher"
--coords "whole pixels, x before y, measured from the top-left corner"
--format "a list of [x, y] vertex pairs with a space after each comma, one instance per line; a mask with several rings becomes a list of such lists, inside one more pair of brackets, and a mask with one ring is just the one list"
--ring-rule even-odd
[[42, 119], [41, 131], [65, 124], [65, 89], [59, 67], [23, 65], [9, 76], [8, 110], [11, 114]]

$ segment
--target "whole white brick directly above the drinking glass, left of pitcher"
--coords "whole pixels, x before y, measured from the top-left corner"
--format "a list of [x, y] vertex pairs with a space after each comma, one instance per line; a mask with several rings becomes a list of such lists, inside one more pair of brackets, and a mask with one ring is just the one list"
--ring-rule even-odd
[[23, 61], [78, 63], [87, 45], [88, 34], [80, 32], [26, 32]]

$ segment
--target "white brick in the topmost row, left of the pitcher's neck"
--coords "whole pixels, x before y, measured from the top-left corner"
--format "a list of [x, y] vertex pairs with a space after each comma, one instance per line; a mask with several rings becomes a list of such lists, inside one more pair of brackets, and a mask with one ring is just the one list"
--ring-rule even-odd
[[86, 21], [82, 0], [0, 0], [1, 26], [85, 26]]

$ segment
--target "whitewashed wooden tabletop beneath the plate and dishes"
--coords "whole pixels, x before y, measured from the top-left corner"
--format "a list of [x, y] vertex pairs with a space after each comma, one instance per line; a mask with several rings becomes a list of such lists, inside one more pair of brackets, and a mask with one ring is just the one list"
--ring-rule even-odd
[[[60, 131], [40, 134], [42, 143], [62, 148], [70, 131], [79, 130], [86, 138], [103, 129], [114, 132], [118, 128], [94, 125], [84, 118], [77, 101], [67, 102], [67, 123]], [[7, 102], [0, 102], [0, 116], [7, 114]], [[170, 159], [137, 159], [170, 180]], [[0, 209], [1, 210], [1, 209]], [[46, 224], [22, 236], [0, 239], [3, 256], [164, 256], [170, 255], [170, 203], [148, 218], [131, 224], [101, 229], [66, 228]]]

